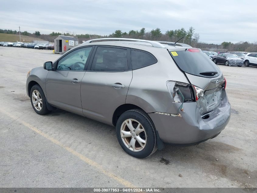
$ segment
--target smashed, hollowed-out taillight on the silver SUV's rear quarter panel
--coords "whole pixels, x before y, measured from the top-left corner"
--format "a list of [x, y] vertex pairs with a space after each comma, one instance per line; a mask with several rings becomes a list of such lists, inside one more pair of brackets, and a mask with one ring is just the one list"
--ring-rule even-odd
[[188, 102], [194, 100], [191, 84], [167, 81], [166, 85], [174, 102]]

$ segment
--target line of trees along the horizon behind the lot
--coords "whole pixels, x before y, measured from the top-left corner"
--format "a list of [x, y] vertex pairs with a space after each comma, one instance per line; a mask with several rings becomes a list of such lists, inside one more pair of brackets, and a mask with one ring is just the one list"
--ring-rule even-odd
[[[2, 30], [0, 33], [5, 34], [19, 34], [19, 31], [16, 30]], [[196, 48], [214, 48], [214, 49], [227, 49], [228, 51], [242, 51], [242, 52], [257, 52], [257, 42], [249, 43], [247, 41], [240, 41], [238, 43], [231, 42], [222, 42], [221, 44], [208, 44], [205, 42], [200, 42], [200, 35], [195, 33], [194, 27], [189, 27], [188, 30], [185, 28], [167, 30], [165, 33], [161, 32], [160, 28], [152, 29], [151, 31], [146, 31], [145, 28], [140, 30], [129, 30], [128, 32], [123, 32], [122, 30], [115, 30], [112, 34], [109, 35], [97, 35], [97, 34], [75, 34], [71, 32], [61, 33], [61, 32], [52, 32], [50, 34], [40, 34], [39, 31], [34, 33], [29, 33], [27, 31], [21, 32], [21, 35], [31, 36], [31, 37], [40, 37], [43, 40], [54, 42], [54, 39], [59, 35], [64, 36], [74, 36], [78, 38], [79, 43], [82, 41], [87, 41], [90, 39], [96, 38], [134, 38], [134, 39], [144, 39], [144, 40], [154, 40], [154, 41], [171, 41], [176, 42], [182, 38], [179, 42], [189, 44], [192, 47]]]

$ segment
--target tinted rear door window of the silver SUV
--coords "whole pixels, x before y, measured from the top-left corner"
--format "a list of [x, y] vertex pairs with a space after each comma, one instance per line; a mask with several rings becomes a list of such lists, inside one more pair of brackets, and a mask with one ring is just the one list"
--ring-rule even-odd
[[113, 72], [127, 70], [127, 49], [98, 47], [90, 70]]

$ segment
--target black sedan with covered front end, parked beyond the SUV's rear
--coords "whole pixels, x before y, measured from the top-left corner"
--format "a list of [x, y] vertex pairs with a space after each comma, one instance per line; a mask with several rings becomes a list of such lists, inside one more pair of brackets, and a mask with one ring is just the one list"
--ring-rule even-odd
[[215, 64], [225, 64], [226, 66], [243, 66], [243, 60], [235, 54], [221, 53], [213, 56], [212, 58]]

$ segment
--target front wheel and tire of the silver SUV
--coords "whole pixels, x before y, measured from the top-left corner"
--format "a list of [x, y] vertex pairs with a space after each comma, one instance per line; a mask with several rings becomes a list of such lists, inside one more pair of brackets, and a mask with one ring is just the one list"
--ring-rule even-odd
[[[39, 100], [37, 100], [37, 98]], [[32, 105], [34, 111], [37, 114], [46, 115], [47, 113], [50, 112], [47, 109], [47, 102], [46, 102], [45, 94], [44, 94], [42, 88], [38, 84], [34, 85], [30, 90], [30, 102], [31, 102], [31, 105]], [[34, 106], [34, 103], [36, 103], [37, 105]]]

